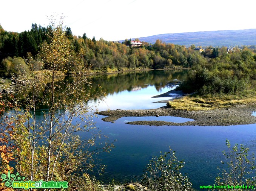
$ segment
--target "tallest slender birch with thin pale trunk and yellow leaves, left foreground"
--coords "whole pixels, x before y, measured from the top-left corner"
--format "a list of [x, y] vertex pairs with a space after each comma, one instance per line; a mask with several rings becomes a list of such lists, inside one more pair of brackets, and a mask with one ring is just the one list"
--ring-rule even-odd
[[[73, 139], [73, 142], [76, 142], [74, 139], [77, 139], [77, 136], [73, 136], [72, 132], [82, 129], [88, 132], [93, 128], [90, 122], [85, 123], [83, 127], [80, 126], [80, 123], [74, 125], [71, 122], [74, 118], [82, 118], [83, 115], [86, 115], [88, 112], [86, 100], [97, 97], [97, 95], [90, 95], [87, 92], [90, 86], [86, 78], [87, 71], [82, 67], [83, 65], [79, 65], [80, 58], [71, 54], [69, 41], [63, 32], [62, 19], [58, 26], [52, 23], [52, 28], [53, 35], [50, 44], [43, 44], [40, 51], [43, 61], [49, 65], [51, 71], [51, 82], [45, 91], [48, 96], [44, 97], [43, 100], [43, 103], [49, 108], [48, 114], [45, 116], [48, 121], [46, 125], [48, 133], [46, 139], [48, 143], [46, 180], [52, 180], [59, 157], [63, 155], [68, 157], [67, 155], [70, 154], [65, 154], [67, 151], [65, 148], [68, 147], [67, 141]], [[68, 83], [62, 80], [57, 83], [61, 75], [74, 65], [79, 69], [79, 73], [73, 76], [72, 82]], [[63, 89], [63, 87], [65, 88]], [[66, 116], [67, 112], [68, 116]], [[94, 145], [93, 139], [88, 140], [87, 144]], [[106, 149], [105, 146], [104, 148]], [[76, 154], [78, 155], [78, 153]], [[83, 156], [84, 159], [87, 157], [88, 155]]]

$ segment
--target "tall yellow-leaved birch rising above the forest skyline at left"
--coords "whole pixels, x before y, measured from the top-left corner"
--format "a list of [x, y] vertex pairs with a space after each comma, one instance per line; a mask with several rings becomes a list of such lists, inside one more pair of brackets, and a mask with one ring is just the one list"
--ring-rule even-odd
[[[92, 131], [94, 126], [88, 118], [89, 108], [86, 102], [89, 99], [96, 99], [99, 95], [91, 95], [87, 91], [91, 86], [91, 82], [88, 81], [88, 71], [83, 68], [81, 58], [72, 53], [70, 42], [64, 32], [63, 18], [60, 18], [57, 26], [55, 21], [52, 21], [51, 26], [53, 29], [49, 34], [51, 41], [49, 44], [44, 43], [40, 50], [40, 55], [51, 73], [51, 80], [46, 86], [43, 97], [43, 105], [49, 108], [48, 113], [44, 116], [46, 128], [43, 132], [48, 144], [46, 181], [52, 180], [59, 162], [63, 162], [64, 159], [65, 161], [70, 159], [70, 162], [73, 163], [74, 158], [84, 162], [89, 158], [89, 167], [93, 167], [91, 164], [92, 154], [99, 149], [107, 150], [110, 146], [104, 144], [96, 150], [90, 149], [95, 144], [95, 136], [99, 136], [99, 134], [94, 134]], [[64, 75], [68, 71], [72, 71], [72, 68], [76, 68], [76, 71], [72, 73], [72, 79], [64, 79]], [[74, 134], [78, 131], [91, 132], [93, 137], [81, 141]], [[83, 152], [79, 149], [82, 149]], [[70, 158], [70, 156], [72, 157]], [[68, 169], [65, 171], [67, 172]]]

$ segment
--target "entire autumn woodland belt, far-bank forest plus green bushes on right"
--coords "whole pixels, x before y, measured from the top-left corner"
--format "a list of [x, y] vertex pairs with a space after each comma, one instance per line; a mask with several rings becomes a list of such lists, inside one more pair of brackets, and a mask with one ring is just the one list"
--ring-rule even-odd
[[[48, 70], [49, 66], [43, 64], [39, 50], [43, 44], [49, 44], [48, 34], [52, 30], [52, 26], [32, 24], [30, 31], [15, 33], [0, 26], [0, 77], [6, 79], [31, 70]], [[199, 53], [194, 50], [195, 45], [185, 47], [159, 39], [153, 45], [130, 47], [127, 39], [123, 43], [102, 38], [96, 41], [94, 36], [90, 39], [86, 33], [78, 37], [73, 35], [69, 27], [64, 32], [71, 47], [70, 55], [79, 56], [83, 67], [90, 73], [192, 67], [182, 85], [185, 92], [241, 94], [255, 88], [254, 45], [234, 47], [230, 52], [227, 52], [227, 47], [208, 46]], [[77, 71], [75, 67], [68, 68], [71, 73]]]

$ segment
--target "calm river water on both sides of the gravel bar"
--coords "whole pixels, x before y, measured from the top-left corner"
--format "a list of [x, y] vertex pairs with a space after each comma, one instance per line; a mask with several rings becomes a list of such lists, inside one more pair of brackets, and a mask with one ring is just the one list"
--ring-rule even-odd
[[[153, 103], [170, 98], [151, 98], [176, 87], [177, 80], [184, 80], [185, 70], [178, 71], [140, 71], [115, 75], [93, 77], [94, 82], [106, 89], [106, 99], [99, 102], [99, 111], [106, 109], [151, 109], [165, 106]], [[170, 95], [172, 97], [172, 95]], [[91, 102], [91, 105], [98, 102]], [[110, 182], [140, 181], [143, 170], [152, 156], [169, 147], [176, 156], [186, 162], [182, 173], [187, 173], [193, 187], [211, 185], [221, 166], [226, 139], [231, 145], [244, 144], [251, 152], [256, 151], [255, 124], [239, 126], [140, 126], [125, 122], [136, 118], [120, 118], [115, 123], [103, 122], [105, 116], [95, 118], [96, 126], [114, 142], [111, 153], [99, 156], [107, 165], [105, 173], [97, 178]], [[151, 119], [149, 119], [151, 120]], [[185, 122], [176, 119], [173, 122]]]

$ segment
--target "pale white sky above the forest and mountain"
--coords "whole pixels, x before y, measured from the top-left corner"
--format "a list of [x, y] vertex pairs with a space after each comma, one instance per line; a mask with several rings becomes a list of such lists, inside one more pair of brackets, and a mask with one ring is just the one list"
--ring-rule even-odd
[[6, 31], [28, 31], [32, 23], [46, 27], [52, 15], [64, 15], [73, 35], [106, 41], [256, 29], [255, 0], [2, 0], [0, 6]]

